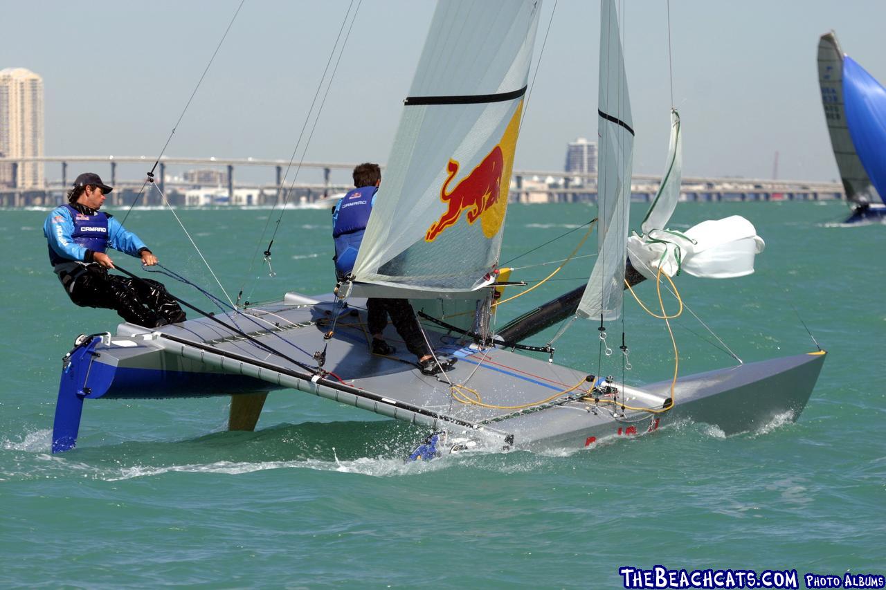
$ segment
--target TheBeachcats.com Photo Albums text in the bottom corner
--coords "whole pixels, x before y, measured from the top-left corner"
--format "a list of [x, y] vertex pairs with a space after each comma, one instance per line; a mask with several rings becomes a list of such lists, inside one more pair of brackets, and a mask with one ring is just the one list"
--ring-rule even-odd
[[626, 588], [790, 588], [797, 590], [800, 580], [807, 588], [882, 588], [881, 574], [850, 573], [842, 575], [805, 573], [797, 570], [670, 570], [654, 565], [651, 570], [618, 568]]

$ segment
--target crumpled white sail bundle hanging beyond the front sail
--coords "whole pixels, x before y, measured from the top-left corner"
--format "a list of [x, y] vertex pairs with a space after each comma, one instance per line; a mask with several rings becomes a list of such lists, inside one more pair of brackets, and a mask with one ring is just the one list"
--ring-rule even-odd
[[627, 240], [633, 268], [655, 279], [659, 268], [664, 275], [686, 271], [705, 278], [732, 278], [754, 272], [754, 257], [766, 244], [753, 224], [740, 215], [703, 221], [680, 232], [667, 228], [682, 182], [682, 135], [680, 114], [671, 112], [671, 140], [661, 186], [641, 225], [641, 236]]

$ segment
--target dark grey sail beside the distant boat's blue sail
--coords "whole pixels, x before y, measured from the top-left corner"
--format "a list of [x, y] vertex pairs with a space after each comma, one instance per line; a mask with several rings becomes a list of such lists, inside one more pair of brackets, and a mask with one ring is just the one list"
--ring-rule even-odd
[[846, 198], [851, 201], [879, 199], [880, 195], [865, 171], [846, 123], [843, 97], [843, 50], [836, 41], [834, 31], [821, 35], [819, 40], [819, 86], [821, 105], [828, 121], [831, 147]]

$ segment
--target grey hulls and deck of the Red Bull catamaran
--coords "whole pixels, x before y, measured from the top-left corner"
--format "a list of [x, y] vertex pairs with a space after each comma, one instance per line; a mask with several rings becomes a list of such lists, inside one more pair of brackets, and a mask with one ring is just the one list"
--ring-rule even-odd
[[[286, 341], [267, 330], [253, 332], [255, 338], [290, 356], [297, 345], [311, 352], [323, 348], [331, 301], [290, 294], [267, 309], [273, 310], [276, 322], [284, 326], [275, 329], [282, 330], [277, 336], [285, 334]], [[258, 308], [252, 313], [260, 317], [265, 310]], [[608, 436], [631, 436], [658, 426], [657, 416], [645, 412], [628, 411], [617, 416], [611, 405], [592, 408], [593, 404], [583, 401], [557, 398], [558, 392], [583, 382], [586, 375], [580, 371], [508, 351], [472, 350], [455, 345], [453, 338], [444, 334], [429, 332], [438, 348], [448, 347], [461, 357], [449, 373], [453, 382], [460, 383], [470, 374], [470, 387], [482, 392], [483, 402], [504, 408], [454, 402], [447, 383], [421, 375], [406, 358], [369, 354], [361, 313], [348, 308], [339, 314], [335, 337], [330, 340], [325, 368], [345, 381], [315, 378], [249, 345], [244, 338], [224, 333], [205, 319], [150, 333], [120, 324], [118, 336], [92, 338], [76, 348], [68, 360], [59, 384], [52, 450], [65, 451], [76, 443], [85, 399], [241, 396], [240, 400], [250, 400], [245, 406], [251, 414], [241, 416], [241, 424], [251, 430], [260, 413], [261, 392], [286, 388], [432, 430], [460, 436], [468, 432], [486, 444], [533, 451], [589, 446]], [[230, 322], [226, 316], [219, 317]], [[237, 320], [243, 327], [243, 318]], [[390, 337], [396, 338], [393, 334]], [[676, 407], [661, 417], [709, 422], [727, 433], [753, 429], [786, 412], [796, 417], [809, 399], [824, 356], [798, 355], [681, 377]], [[670, 381], [642, 390], [627, 389], [629, 405], [660, 407], [670, 397]], [[531, 405], [552, 395], [557, 399], [547, 404], [507, 408]]]

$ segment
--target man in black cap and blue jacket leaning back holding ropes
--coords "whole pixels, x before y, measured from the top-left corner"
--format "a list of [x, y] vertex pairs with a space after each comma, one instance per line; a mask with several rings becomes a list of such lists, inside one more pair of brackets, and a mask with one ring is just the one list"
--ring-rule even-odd
[[113, 190], [91, 172], [77, 176], [67, 193], [68, 204], [59, 206], [43, 223], [49, 242], [50, 262], [65, 292], [80, 307], [114, 309], [124, 320], [145, 328], [183, 322], [185, 314], [162, 283], [108, 274], [111, 247], [157, 264], [157, 257], [136, 234], [98, 209]]

